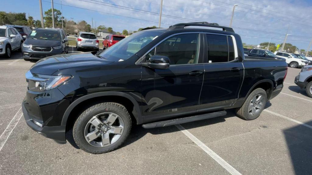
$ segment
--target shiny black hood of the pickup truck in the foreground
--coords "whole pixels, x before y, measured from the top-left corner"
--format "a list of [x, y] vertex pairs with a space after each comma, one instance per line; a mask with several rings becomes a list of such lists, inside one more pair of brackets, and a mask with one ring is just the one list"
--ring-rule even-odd
[[39, 60], [30, 68], [31, 73], [38, 73], [43, 75], [52, 75], [58, 70], [68, 69], [82, 66], [96, 66], [113, 63], [105, 59], [94, 56], [91, 52], [76, 53], [76, 54], [62, 54], [46, 57]]

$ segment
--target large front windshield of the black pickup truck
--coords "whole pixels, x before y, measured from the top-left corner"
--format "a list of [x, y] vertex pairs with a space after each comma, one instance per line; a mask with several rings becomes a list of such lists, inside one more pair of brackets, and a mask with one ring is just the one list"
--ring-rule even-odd
[[111, 61], [124, 61], [163, 33], [160, 31], [136, 32], [111, 46], [100, 56]]

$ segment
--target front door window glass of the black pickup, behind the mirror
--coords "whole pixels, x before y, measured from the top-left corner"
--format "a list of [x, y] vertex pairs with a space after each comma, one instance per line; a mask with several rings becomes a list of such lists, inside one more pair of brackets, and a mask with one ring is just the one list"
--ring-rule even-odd
[[[156, 50], [155, 50], [156, 49]], [[175, 35], [160, 43], [145, 56], [145, 61], [153, 55], [163, 55], [173, 64], [196, 64], [199, 50], [199, 34]]]

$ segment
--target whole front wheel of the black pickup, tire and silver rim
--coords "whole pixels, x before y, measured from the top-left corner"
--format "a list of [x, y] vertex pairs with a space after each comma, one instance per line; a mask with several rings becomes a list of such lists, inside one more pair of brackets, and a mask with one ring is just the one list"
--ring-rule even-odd
[[131, 116], [119, 103], [98, 103], [83, 111], [73, 127], [80, 149], [101, 154], [119, 147], [131, 130]]

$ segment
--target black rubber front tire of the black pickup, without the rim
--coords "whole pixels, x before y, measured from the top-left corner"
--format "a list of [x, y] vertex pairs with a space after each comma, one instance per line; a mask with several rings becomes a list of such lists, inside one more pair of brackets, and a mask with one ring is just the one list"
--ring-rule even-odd
[[[122, 134], [120, 135], [119, 139], [115, 141], [115, 143], [112, 143], [105, 147], [96, 147], [89, 144], [85, 139], [85, 127], [88, 125], [88, 122], [91, 120], [93, 116], [96, 116], [103, 112], [113, 112], [119, 115], [119, 117], [122, 119], [124, 123], [124, 128]], [[118, 148], [124, 142], [124, 140], [126, 140], [131, 130], [131, 124], [132, 124], [131, 116], [129, 115], [129, 112], [123, 105], [112, 102], [98, 103], [90, 106], [80, 114], [78, 119], [75, 121], [73, 127], [73, 137], [78, 147], [88, 153], [92, 154], [106, 153]]]

